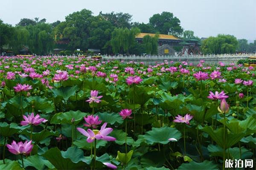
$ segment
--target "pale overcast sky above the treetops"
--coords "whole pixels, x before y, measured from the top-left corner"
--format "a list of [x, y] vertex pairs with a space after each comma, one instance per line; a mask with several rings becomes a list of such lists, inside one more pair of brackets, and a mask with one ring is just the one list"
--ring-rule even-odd
[[98, 15], [111, 11], [132, 14], [133, 22], [172, 12], [185, 30], [198, 37], [232, 34], [256, 39], [256, 0], [1, 0], [0, 19], [17, 24], [21, 18], [46, 18], [48, 23], [86, 8]]

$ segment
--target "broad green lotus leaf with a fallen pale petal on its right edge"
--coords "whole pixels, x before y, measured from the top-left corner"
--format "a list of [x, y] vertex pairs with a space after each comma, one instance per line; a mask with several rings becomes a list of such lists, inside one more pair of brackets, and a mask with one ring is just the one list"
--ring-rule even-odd
[[167, 144], [170, 141], [168, 139], [175, 138], [177, 141], [181, 138], [181, 133], [176, 128], [164, 126], [160, 128], [152, 127], [152, 130], [147, 131], [143, 135], [147, 144]]

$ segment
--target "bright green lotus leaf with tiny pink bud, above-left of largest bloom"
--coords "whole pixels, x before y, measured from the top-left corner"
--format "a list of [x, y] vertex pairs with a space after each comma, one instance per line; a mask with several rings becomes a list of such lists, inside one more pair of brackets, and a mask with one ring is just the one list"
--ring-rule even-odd
[[[84, 116], [87, 116], [88, 113], [83, 113], [81, 111], [68, 111], [56, 113], [52, 116], [51, 123], [52, 124], [69, 124], [69, 125], [77, 125], [84, 119]], [[71, 122], [72, 119], [75, 119], [75, 122]]]

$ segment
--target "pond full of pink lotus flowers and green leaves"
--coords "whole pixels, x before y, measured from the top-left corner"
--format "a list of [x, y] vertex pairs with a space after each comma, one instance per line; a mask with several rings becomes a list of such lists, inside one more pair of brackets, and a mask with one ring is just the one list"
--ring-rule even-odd
[[204, 60], [0, 57], [0, 169], [255, 167], [255, 73]]

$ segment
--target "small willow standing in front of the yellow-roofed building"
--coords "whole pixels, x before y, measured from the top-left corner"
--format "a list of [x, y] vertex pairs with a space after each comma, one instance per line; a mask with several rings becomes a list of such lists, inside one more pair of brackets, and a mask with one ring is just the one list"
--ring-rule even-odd
[[145, 49], [145, 53], [157, 54], [158, 37], [158, 34], [155, 34], [153, 37], [150, 35], [145, 35], [143, 37], [143, 46]]

